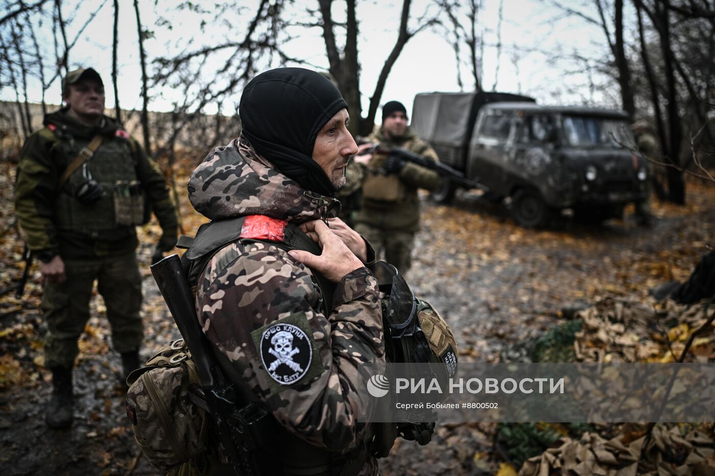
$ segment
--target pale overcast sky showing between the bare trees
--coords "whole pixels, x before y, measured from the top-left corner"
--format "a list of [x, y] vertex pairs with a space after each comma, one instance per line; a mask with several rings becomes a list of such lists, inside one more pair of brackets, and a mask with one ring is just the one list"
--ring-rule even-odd
[[[65, 9], [72, 12], [73, 2], [63, 2]], [[178, 2], [177, 2], [178, 3]], [[212, 2], [199, 2], [210, 5]], [[297, 1], [295, 18], [300, 18], [304, 6], [317, 7], [317, 2]], [[313, 5], [313, 4], [316, 5]], [[76, 2], [74, 2], [76, 4]], [[248, 11], [255, 10], [256, 1], [241, 1], [240, 6], [247, 6]], [[578, 2], [570, 2], [574, 6]], [[74, 31], [69, 30], [70, 38], [77, 34], [76, 29], [84, 24], [92, 12], [87, 8], [89, 2], [84, 2], [82, 8], [72, 21]], [[92, 3], [92, 9], [99, 6]], [[122, 108], [139, 108], [141, 106], [140, 70], [137, 51], [137, 28], [132, 1], [119, 0], [120, 5], [120, 51], [119, 64], [121, 77], [119, 81], [119, 99]], [[165, 14], [167, 0], [159, 1], [161, 11], [157, 12], [154, 2], [141, 2], [142, 21], [147, 28], [156, 32], [156, 38], [147, 41], [149, 60], [154, 56], [170, 54], [172, 48], [182, 44], [182, 38], [196, 36], [197, 16], [183, 14], [172, 17], [172, 30], [169, 31], [156, 24], [159, 14]], [[542, 0], [504, 0], [503, 22], [501, 24], [501, 41], [503, 44], [501, 60], [497, 61], [497, 36], [499, 0], [486, 0], [478, 28], [484, 34], [484, 56], [482, 65], [482, 84], [484, 89], [491, 90], [496, 84], [498, 91], [515, 92], [535, 97], [542, 104], [593, 104], [598, 106], [616, 106], [618, 104], [618, 86], [596, 74], [591, 78], [585, 73], [586, 63], [563, 60], [554, 61], [557, 52], [561, 56], [571, 56], [574, 51], [585, 57], [596, 58], [606, 51], [607, 46], [603, 32], [586, 24], [581, 19], [563, 18], [558, 9]], [[334, 5], [337, 21], [344, 18], [345, 4], [337, 1]], [[358, 19], [360, 20], [360, 64], [362, 66], [361, 88], [363, 104], [367, 108], [369, 96], [372, 94], [378, 74], [397, 37], [400, 16], [400, 1], [376, 2], [365, 0], [358, 4]], [[434, 11], [428, 0], [413, 1], [412, 18], [416, 19], [425, 11]], [[1, 12], [0, 12], [1, 14]], [[107, 106], [114, 104], [111, 87], [112, 66], [112, 2], [106, 1], [97, 17], [84, 31], [71, 50], [71, 67], [93, 66], [104, 77], [107, 86]], [[68, 18], [72, 18], [71, 14]], [[248, 16], [238, 21], [248, 21]], [[416, 24], [410, 24], [414, 27]], [[46, 36], [38, 30], [39, 41], [51, 49], [51, 32], [49, 26], [44, 26]], [[190, 34], [187, 34], [190, 32]], [[224, 27], [216, 31], [209, 29], [210, 35], [222, 35]], [[411, 111], [415, 94], [424, 91], [458, 91], [456, 62], [453, 49], [443, 37], [443, 29], [428, 29], [410, 39], [400, 58], [395, 63], [388, 78], [381, 102], [396, 99], [402, 101]], [[205, 40], [205, 41], [202, 41]], [[196, 46], [201, 43], [215, 41], [212, 38], [194, 38]], [[185, 44], [185, 41], [184, 41]], [[194, 46], [193, 44], [191, 45]], [[49, 50], [51, 51], [51, 50]], [[327, 69], [325, 45], [319, 29], [297, 31], [297, 34], [286, 46], [291, 56], [302, 57], [311, 64]], [[220, 64], [209, 65], [218, 68]], [[294, 66], [294, 65], [289, 65]], [[468, 69], [463, 69], [465, 89], [471, 89], [473, 83]], [[606, 85], [605, 88], [591, 89], [589, 81], [596, 85]], [[601, 90], [605, 92], [602, 92]], [[167, 111], [172, 109], [171, 99], [176, 91], [162, 91], [161, 97], [154, 97], [150, 109]], [[14, 100], [14, 91], [5, 88], [1, 91], [2, 99]], [[29, 94], [31, 101], [40, 100], [40, 91], [36, 82], [31, 84]], [[236, 98], [237, 100], [237, 98]], [[59, 81], [48, 91], [46, 101], [59, 101]], [[210, 112], [210, 111], [209, 111]]]

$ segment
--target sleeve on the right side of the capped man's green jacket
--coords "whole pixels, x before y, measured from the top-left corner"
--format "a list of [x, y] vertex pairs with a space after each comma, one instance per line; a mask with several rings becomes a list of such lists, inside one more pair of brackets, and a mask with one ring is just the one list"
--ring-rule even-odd
[[176, 235], [178, 220], [174, 204], [169, 198], [167, 181], [164, 180], [157, 163], [149, 159], [147, 153], [144, 152], [144, 148], [133, 137], [129, 140], [132, 142], [132, 150], [137, 160], [137, 178], [139, 182], [142, 182], [144, 190], [149, 195], [152, 211], [157, 215], [164, 232]]

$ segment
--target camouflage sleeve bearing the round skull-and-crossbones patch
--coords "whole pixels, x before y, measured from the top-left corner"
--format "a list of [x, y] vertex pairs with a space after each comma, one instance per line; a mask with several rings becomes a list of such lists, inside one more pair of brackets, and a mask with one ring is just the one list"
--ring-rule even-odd
[[[310, 269], [262, 243], [223, 248], [197, 289], [209, 341], [287, 430], [327, 450], [358, 445], [368, 425], [357, 419], [370, 411], [357, 392], [370, 377], [361, 364], [385, 362], [378, 286], [367, 268], [336, 285], [329, 316]], [[287, 347], [270, 339], [285, 330], [294, 336]]]

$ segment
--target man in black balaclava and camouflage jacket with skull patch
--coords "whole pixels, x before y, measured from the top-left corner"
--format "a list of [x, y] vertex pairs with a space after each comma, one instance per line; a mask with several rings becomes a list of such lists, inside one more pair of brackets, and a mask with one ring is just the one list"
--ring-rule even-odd
[[[370, 377], [363, 365], [385, 362], [378, 284], [365, 266], [375, 253], [334, 218], [358, 152], [347, 103], [319, 73], [280, 68], [247, 84], [239, 114], [241, 136], [189, 179], [197, 212], [245, 217], [239, 239], [199, 274], [199, 324], [225, 375], [280, 424], [285, 474], [378, 474], [357, 390]], [[295, 225], [320, 255], [279, 246]]]

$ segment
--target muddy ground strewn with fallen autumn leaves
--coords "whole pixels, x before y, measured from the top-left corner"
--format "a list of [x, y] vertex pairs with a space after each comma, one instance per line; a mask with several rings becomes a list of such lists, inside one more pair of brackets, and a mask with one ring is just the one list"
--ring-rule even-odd
[[[183, 171], [179, 170], [182, 177]], [[21, 274], [22, 242], [14, 227], [14, 168], [0, 169], [0, 288]], [[179, 195], [184, 196], [178, 179]], [[193, 234], [202, 217], [181, 199], [182, 222]], [[689, 182], [686, 207], [654, 204], [656, 219], [638, 228], [627, 216], [603, 226], [568, 217], [551, 229], [516, 227], [508, 214], [463, 194], [455, 206], [424, 202], [408, 282], [455, 329], [460, 359], [494, 362], [518, 343], [563, 322], [561, 309], [610, 295], [636, 295], [669, 279], [685, 279], [715, 245], [715, 186]], [[147, 264], [159, 235], [155, 222], [140, 230], [144, 276], [142, 354], [149, 357], [178, 333]], [[0, 473], [2, 475], [158, 475], [139, 455], [117, 385], [119, 356], [101, 297], [80, 343], [75, 369], [75, 423], [44, 425], [49, 372], [43, 367], [41, 288], [34, 267], [23, 299], [0, 298]], [[494, 424], [442, 426], [427, 447], [398, 440], [381, 463], [385, 475], [510, 474], [494, 450]], [[513, 474], [513, 473], [512, 473]]]

